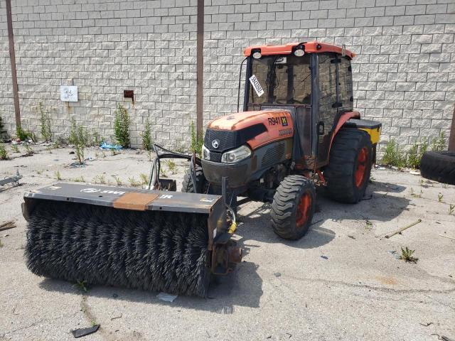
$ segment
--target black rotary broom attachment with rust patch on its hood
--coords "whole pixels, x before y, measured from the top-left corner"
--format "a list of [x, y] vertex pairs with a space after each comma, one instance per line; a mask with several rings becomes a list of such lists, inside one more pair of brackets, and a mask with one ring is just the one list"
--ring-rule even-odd
[[58, 183], [24, 201], [38, 276], [205, 297], [241, 259], [218, 195]]

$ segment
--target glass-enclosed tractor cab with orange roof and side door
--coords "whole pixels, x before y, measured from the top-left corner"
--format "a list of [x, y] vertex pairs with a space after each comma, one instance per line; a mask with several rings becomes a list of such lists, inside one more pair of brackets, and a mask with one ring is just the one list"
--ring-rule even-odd
[[252, 46], [245, 56], [244, 111], [287, 109], [297, 132], [294, 160], [326, 164], [338, 117], [353, 111], [354, 54], [315, 41]]

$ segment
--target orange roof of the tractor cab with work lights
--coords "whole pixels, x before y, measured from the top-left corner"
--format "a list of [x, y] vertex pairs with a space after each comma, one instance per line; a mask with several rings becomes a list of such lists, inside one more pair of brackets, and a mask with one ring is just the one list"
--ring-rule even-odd
[[[338, 54], [343, 54], [343, 48], [326, 44], [326, 43], [319, 43], [319, 41], [310, 41], [304, 43], [289, 43], [286, 45], [258, 45], [258, 46], [250, 46], [245, 48], [243, 54], [245, 57], [249, 57], [252, 53], [256, 52], [257, 50], [260, 51], [262, 55], [289, 55], [293, 52], [294, 48], [297, 45], [303, 45], [305, 53], [323, 53], [323, 52], [334, 52]], [[355, 53], [350, 52], [350, 50], [344, 50], [345, 55], [347, 55], [350, 59], [355, 57]]]

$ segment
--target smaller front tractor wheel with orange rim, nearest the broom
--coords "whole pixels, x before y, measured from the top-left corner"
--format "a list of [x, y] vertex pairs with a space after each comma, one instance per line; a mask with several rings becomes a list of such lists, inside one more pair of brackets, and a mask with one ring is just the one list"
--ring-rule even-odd
[[284, 239], [300, 239], [309, 229], [316, 207], [316, 190], [302, 175], [289, 175], [273, 197], [270, 217], [274, 232]]

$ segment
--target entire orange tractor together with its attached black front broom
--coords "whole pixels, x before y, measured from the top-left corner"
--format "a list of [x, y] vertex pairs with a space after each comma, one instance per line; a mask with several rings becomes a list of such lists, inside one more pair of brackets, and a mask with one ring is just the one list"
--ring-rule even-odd
[[[240, 261], [230, 237], [243, 202], [271, 203], [274, 232], [286, 239], [308, 231], [315, 185], [358, 202], [381, 124], [353, 111], [354, 54], [314, 41], [254, 46], [245, 57], [243, 112], [208, 124], [202, 158], [155, 145], [149, 190], [56, 184], [26, 193], [28, 268], [67, 281], [205, 296], [210, 276]], [[163, 158], [191, 161], [186, 193], [159, 178]]]

